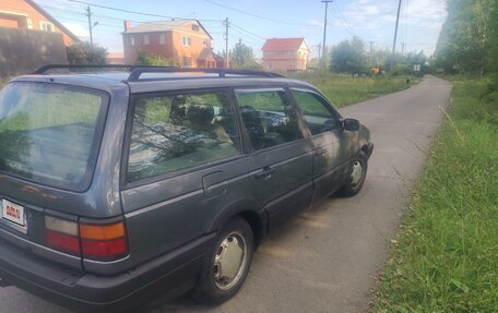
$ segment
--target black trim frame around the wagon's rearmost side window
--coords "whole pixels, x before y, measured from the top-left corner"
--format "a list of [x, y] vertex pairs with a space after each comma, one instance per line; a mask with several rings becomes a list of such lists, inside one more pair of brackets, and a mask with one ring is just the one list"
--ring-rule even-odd
[[[178, 169], [175, 171], [157, 174], [154, 177], [147, 177], [144, 179], [140, 179], [137, 181], [129, 182], [127, 177], [128, 177], [128, 164], [129, 164], [129, 158], [130, 158], [130, 144], [131, 144], [131, 134], [132, 134], [132, 127], [133, 127], [133, 116], [135, 111], [135, 99], [137, 98], [155, 98], [155, 97], [168, 97], [168, 96], [175, 96], [179, 94], [206, 94], [206, 93], [224, 93], [227, 96], [229, 105], [234, 108], [234, 115], [236, 116], [235, 121], [236, 121], [236, 130], [239, 135], [239, 154], [223, 158], [220, 160], [212, 161], [210, 164], [203, 164], [194, 167], [189, 167], [189, 168], [183, 168], [183, 169]], [[121, 190], [129, 190], [129, 189], [134, 189], [139, 188], [142, 185], [159, 182], [166, 179], [171, 179], [175, 177], [188, 174], [191, 172], [197, 172], [213, 166], [218, 166], [222, 164], [228, 164], [232, 161], [235, 161], [240, 158], [246, 157], [246, 152], [245, 152], [245, 137], [244, 134], [241, 133], [241, 125], [240, 125], [240, 120], [239, 120], [239, 111], [238, 108], [236, 107], [236, 104], [234, 103], [234, 99], [232, 97], [232, 89], [230, 88], [199, 88], [199, 89], [177, 89], [177, 91], [168, 91], [168, 92], [150, 92], [150, 93], [137, 93], [137, 94], [131, 94], [128, 100], [128, 112], [127, 112], [127, 121], [124, 125], [124, 139], [123, 139], [123, 145], [122, 145], [122, 152], [121, 152], [121, 167], [120, 167], [120, 186]]]

